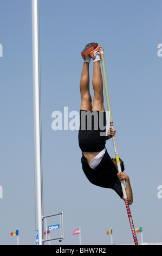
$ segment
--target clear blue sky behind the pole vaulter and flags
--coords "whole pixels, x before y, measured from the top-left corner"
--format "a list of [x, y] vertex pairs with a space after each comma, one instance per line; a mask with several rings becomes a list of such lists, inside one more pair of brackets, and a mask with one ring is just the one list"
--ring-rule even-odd
[[[133, 189], [134, 226], [142, 225], [144, 242], [162, 241], [161, 20], [158, 0], [40, 0], [44, 214], [64, 211], [62, 245], [79, 244], [73, 236], [79, 227], [82, 245], [110, 243], [111, 227], [114, 243], [133, 243], [125, 203], [82, 172], [78, 132], [51, 128], [54, 111], [80, 109], [81, 51], [92, 41], [104, 49], [116, 143]], [[16, 244], [10, 233], [18, 228], [20, 244], [35, 245], [31, 1], [1, 0], [0, 22], [0, 244]], [[106, 148], [113, 157], [112, 141]]]

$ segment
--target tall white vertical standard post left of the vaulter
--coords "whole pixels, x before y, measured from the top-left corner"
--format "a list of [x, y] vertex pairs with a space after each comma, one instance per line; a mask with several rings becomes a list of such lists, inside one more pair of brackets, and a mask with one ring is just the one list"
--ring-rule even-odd
[[33, 113], [34, 113], [34, 161], [35, 161], [35, 214], [36, 244], [43, 239], [43, 192], [42, 192], [42, 143], [41, 143], [41, 97], [40, 97], [40, 38], [39, 1], [31, 0], [32, 46], [33, 46]]

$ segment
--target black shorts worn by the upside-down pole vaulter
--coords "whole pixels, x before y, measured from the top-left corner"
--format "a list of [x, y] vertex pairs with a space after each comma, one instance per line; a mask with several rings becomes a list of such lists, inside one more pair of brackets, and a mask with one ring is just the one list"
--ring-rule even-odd
[[82, 152], [99, 152], [106, 143], [106, 112], [80, 111], [79, 147]]

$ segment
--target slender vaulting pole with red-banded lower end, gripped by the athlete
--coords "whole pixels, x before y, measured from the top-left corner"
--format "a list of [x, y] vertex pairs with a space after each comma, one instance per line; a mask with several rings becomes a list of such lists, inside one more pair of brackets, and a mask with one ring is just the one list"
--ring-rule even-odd
[[[111, 112], [111, 106], [110, 106], [110, 101], [109, 101], [107, 78], [106, 78], [105, 60], [104, 60], [103, 48], [102, 47], [100, 48], [100, 55], [101, 55], [101, 63], [102, 63], [103, 81], [104, 81], [104, 84], [105, 84], [105, 93], [106, 93], [106, 101], [107, 101], [107, 108], [108, 108], [108, 114], [109, 114], [109, 121], [110, 121], [110, 126], [113, 128], [113, 119], [112, 119], [112, 112]], [[116, 158], [116, 163], [117, 163], [117, 166], [118, 166], [118, 171], [121, 172], [121, 166], [120, 166], [118, 150], [117, 150], [117, 147], [116, 147], [115, 136], [113, 136], [112, 139], [113, 139], [113, 146], [114, 146], [115, 158]], [[128, 204], [128, 199], [127, 199], [127, 194], [126, 194], [124, 181], [121, 180], [120, 182], [121, 182], [122, 193], [124, 195], [124, 200], [125, 200], [125, 204], [126, 204], [129, 223], [131, 225], [131, 230], [132, 230], [134, 243], [135, 243], [135, 245], [138, 245], [138, 240], [137, 240], [137, 236], [135, 234], [135, 228], [134, 228], [134, 224], [133, 224], [133, 220], [132, 220], [132, 216], [131, 216], [131, 211], [129, 209], [129, 204]]]

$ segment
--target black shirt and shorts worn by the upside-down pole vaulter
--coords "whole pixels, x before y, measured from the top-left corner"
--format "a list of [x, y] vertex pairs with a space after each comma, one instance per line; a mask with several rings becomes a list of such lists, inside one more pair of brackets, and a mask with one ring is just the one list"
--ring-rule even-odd
[[[94, 113], [95, 112], [95, 113]], [[91, 120], [89, 121], [89, 119]], [[102, 132], [102, 136], [101, 136]], [[82, 152], [99, 152], [106, 144], [106, 113], [100, 111], [80, 111], [79, 147]], [[118, 179], [116, 167], [107, 153], [102, 157], [99, 165], [90, 168], [86, 157], [81, 157], [82, 169], [87, 179], [94, 185], [112, 188], [121, 198], [122, 188]]]

